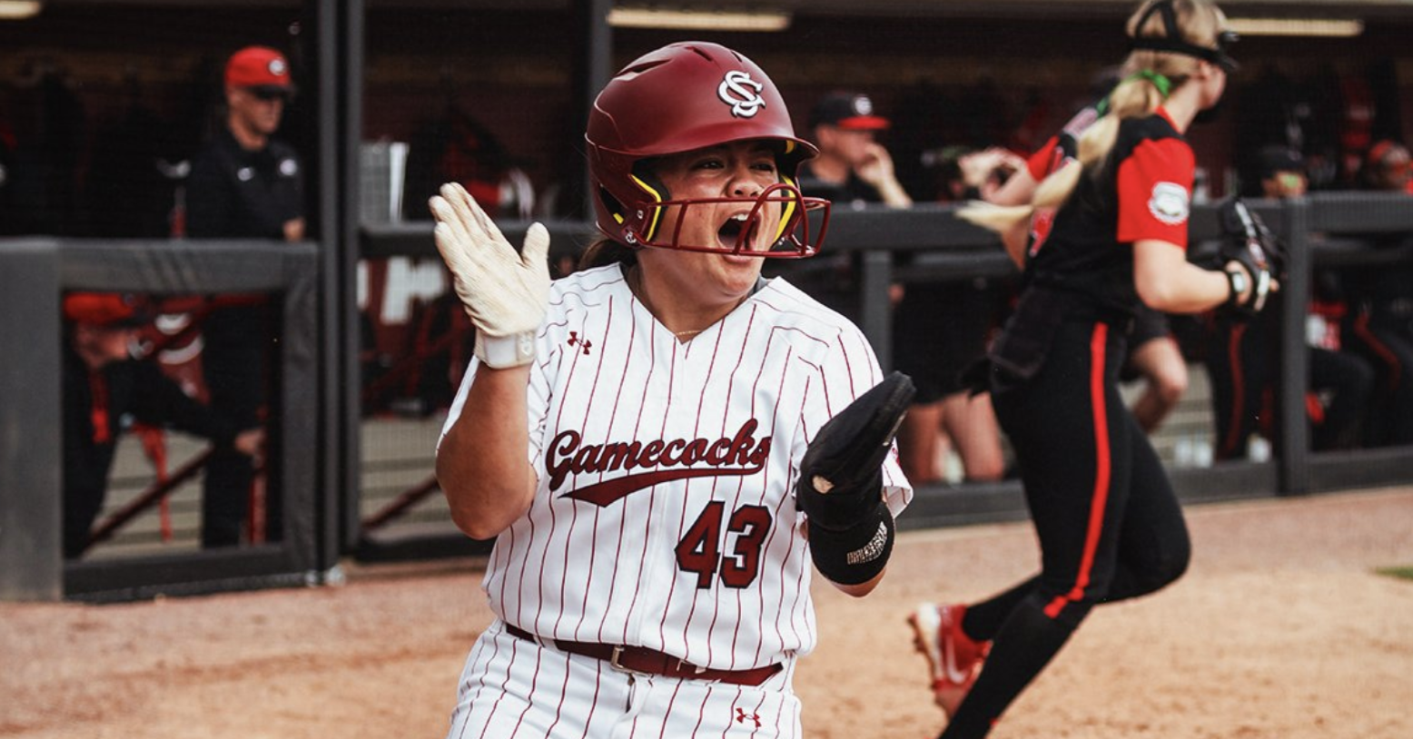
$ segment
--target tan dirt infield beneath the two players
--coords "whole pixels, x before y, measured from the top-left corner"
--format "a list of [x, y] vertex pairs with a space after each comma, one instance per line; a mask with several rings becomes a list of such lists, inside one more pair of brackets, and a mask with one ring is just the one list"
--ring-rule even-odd
[[[992, 736], [1413, 736], [1413, 487], [1188, 510], [1190, 574], [1105, 606]], [[942, 726], [903, 623], [1030, 574], [1027, 524], [903, 534], [883, 586], [817, 588], [797, 690], [814, 739]], [[475, 562], [349, 585], [110, 606], [0, 603], [0, 736], [439, 738], [490, 620]]]

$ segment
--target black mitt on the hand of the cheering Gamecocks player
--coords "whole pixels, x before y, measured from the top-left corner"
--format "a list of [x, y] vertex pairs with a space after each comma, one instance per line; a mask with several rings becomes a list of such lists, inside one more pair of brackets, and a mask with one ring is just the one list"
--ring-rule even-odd
[[829, 418], [800, 462], [796, 502], [810, 526], [845, 530], [877, 509], [883, 459], [916, 393], [913, 379], [894, 372]]

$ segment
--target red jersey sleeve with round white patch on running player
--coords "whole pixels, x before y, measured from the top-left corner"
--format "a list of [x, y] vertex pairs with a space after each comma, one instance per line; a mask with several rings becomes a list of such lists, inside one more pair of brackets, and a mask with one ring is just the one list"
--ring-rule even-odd
[[1195, 165], [1193, 148], [1181, 138], [1139, 143], [1119, 164], [1118, 240], [1159, 239], [1187, 249]]

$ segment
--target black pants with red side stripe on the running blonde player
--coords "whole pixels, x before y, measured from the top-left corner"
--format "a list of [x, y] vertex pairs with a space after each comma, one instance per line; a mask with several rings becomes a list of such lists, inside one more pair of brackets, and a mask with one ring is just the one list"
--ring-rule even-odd
[[1065, 319], [1030, 380], [992, 387], [1041, 572], [968, 608], [964, 630], [992, 649], [947, 739], [985, 736], [1095, 605], [1154, 592], [1187, 569], [1183, 510], [1119, 396], [1125, 356], [1121, 328]]

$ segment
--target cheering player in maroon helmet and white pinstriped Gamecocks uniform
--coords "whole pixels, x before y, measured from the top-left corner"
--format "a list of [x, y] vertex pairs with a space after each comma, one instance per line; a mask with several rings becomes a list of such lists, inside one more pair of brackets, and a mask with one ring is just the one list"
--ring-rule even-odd
[[448, 736], [798, 736], [810, 562], [868, 593], [911, 497], [894, 452], [858, 526], [805, 526], [807, 448], [882, 377], [856, 326], [760, 277], [818, 249], [805, 211], [828, 203], [794, 185], [814, 147], [759, 66], [704, 42], [622, 69], [586, 144], [606, 239], [552, 284], [541, 226], [516, 253], [462, 188], [432, 199], [478, 326], [437, 473], [496, 538], [499, 616]]

